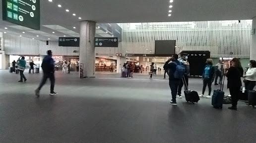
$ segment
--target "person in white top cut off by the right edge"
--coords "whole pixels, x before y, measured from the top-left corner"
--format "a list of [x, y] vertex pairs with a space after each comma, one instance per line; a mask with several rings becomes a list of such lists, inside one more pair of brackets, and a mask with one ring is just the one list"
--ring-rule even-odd
[[250, 90], [254, 90], [254, 87], [256, 85], [256, 61], [251, 60], [250, 61], [250, 68], [244, 75], [244, 82], [245, 82], [245, 89], [246, 92]]

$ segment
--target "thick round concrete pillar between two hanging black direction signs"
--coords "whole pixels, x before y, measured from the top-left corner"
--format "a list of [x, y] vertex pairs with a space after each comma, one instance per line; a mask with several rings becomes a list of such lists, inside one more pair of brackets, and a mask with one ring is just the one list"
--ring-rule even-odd
[[80, 22], [79, 62], [84, 77], [95, 77], [95, 26], [93, 21]]

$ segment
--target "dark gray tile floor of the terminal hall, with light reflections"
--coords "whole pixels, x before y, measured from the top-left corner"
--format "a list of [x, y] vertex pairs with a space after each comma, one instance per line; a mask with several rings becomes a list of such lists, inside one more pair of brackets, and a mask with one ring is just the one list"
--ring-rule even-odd
[[[48, 82], [40, 99], [42, 74], [25, 75], [28, 82], [18, 83], [17, 74], [0, 71], [1, 143], [256, 143], [256, 109], [239, 102], [238, 111], [218, 110], [204, 98], [173, 107], [162, 75], [56, 73], [59, 95], [48, 95]], [[200, 93], [200, 79], [190, 88]]]

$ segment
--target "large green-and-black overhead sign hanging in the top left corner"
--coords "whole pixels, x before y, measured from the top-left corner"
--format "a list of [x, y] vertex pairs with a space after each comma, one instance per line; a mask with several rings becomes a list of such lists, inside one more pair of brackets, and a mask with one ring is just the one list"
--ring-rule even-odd
[[2, 0], [2, 20], [40, 30], [40, 0]]

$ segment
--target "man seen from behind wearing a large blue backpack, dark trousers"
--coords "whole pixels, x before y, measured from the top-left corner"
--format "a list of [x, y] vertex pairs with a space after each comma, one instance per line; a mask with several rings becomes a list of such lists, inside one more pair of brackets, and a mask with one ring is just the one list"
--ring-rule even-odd
[[171, 105], [177, 106], [176, 95], [178, 91], [178, 86], [181, 83], [181, 80], [186, 72], [186, 68], [178, 61], [179, 56], [177, 54], [172, 55], [172, 61], [168, 64], [169, 69], [169, 86], [172, 92]]

